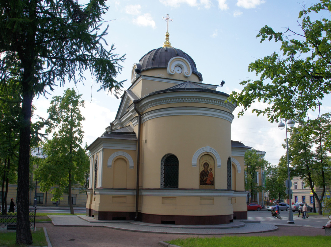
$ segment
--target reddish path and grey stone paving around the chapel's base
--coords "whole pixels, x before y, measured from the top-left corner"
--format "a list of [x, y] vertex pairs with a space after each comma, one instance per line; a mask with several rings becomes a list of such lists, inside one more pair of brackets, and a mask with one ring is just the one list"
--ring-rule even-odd
[[[91, 217], [49, 215], [52, 223], [36, 223], [47, 230], [49, 247], [160, 247], [163, 241], [187, 237], [226, 235], [324, 235], [324, 230], [294, 225], [275, 226], [234, 221], [215, 226], [155, 225], [134, 221], [96, 221]], [[257, 221], [255, 221], [257, 222]], [[224, 228], [224, 227], [227, 228]], [[230, 228], [228, 228], [230, 227]]]

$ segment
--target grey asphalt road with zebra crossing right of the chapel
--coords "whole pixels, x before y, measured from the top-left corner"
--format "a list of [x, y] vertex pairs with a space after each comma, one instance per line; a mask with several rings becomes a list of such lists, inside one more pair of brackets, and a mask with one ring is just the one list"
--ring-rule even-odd
[[[277, 218], [274, 219], [274, 217], [271, 216], [271, 212], [267, 210], [248, 211], [247, 213], [248, 220], [259, 220], [261, 223], [264, 224], [293, 225], [287, 223], [288, 211], [280, 211], [280, 216], [282, 217], [282, 220]], [[295, 213], [293, 212], [293, 221], [294, 221], [294, 225], [297, 226], [322, 228], [322, 226], [325, 226], [328, 220], [327, 220], [327, 216], [312, 215], [312, 214], [310, 214], [308, 219], [303, 219], [302, 215], [298, 217], [298, 212]]]

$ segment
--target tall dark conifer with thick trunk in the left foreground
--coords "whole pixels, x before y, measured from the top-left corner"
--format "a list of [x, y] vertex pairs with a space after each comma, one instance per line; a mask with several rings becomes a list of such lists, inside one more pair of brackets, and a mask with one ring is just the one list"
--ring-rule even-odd
[[[17, 188], [17, 244], [31, 244], [29, 224], [29, 152], [32, 100], [66, 81], [78, 83], [88, 69], [100, 89], [115, 92], [114, 77], [124, 59], [104, 48], [107, 28], [99, 33], [105, 0], [0, 1], [0, 84], [15, 78], [20, 88], [20, 140]], [[78, 72], [78, 73], [77, 73]]]

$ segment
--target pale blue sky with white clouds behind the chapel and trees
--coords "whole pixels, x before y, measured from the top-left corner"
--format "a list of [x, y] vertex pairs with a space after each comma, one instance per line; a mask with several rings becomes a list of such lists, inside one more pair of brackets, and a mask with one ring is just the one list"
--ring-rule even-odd
[[[80, 2], [80, 1], [79, 1]], [[166, 33], [166, 21], [169, 14], [169, 38], [172, 47], [188, 53], [202, 73], [203, 83], [219, 85], [218, 90], [231, 93], [241, 90], [239, 83], [255, 74], [248, 72], [250, 62], [278, 52], [280, 44], [256, 38], [261, 27], [268, 25], [275, 31], [285, 31], [286, 27], [300, 31], [297, 18], [302, 5], [309, 7], [316, 3], [294, 0], [109, 0], [110, 7], [104, 16], [104, 25], [109, 25], [106, 41], [115, 45], [115, 53], [126, 54], [122, 63], [123, 70], [117, 80], [127, 80], [130, 86], [131, 69], [134, 63], [155, 48], [162, 47]], [[96, 92], [98, 86], [86, 73], [85, 86], [76, 87], [83, 94], [85, 109], [82, 114], [85, 132], [84, 142], [91, 144], [115, 119], [120, 100], [105, 92]], [[74, 87], [67, 83], [64, 89]], [[63, 88], [58, 88], [54, 95], [61, 95]], [[39, 98], [34, 101], [36, 114], [46, 117], [49, 99]], [[259, 105], [258, 105], [259, 106]], [[263, 105], [260, 105], [263, 107]], [[242, 141], [245, 145], [265, 151], [265, 158], [277, 164], [285, 150], [285, 130], [279, 130], [277, 123], [269, 123], [263, 116], [246, 112], [237, 118], [237, 108], [233, 113], [232, 140]], [[323, 106], [322, 112], [330, 112], [330, 107]], [[312, 113], [311, 118], [317, 115]], [[175, 126], [174, 126], [175, 127]]]

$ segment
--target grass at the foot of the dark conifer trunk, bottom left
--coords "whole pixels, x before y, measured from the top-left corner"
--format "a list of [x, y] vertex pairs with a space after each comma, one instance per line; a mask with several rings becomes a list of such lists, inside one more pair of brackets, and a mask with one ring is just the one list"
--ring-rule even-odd
[[[44, 229], [31, 231], [33, 243], [26, 246], [47, 246]], [[18, 247], [16, 245], [16, 232], [0, 232], [0, 247]]]

